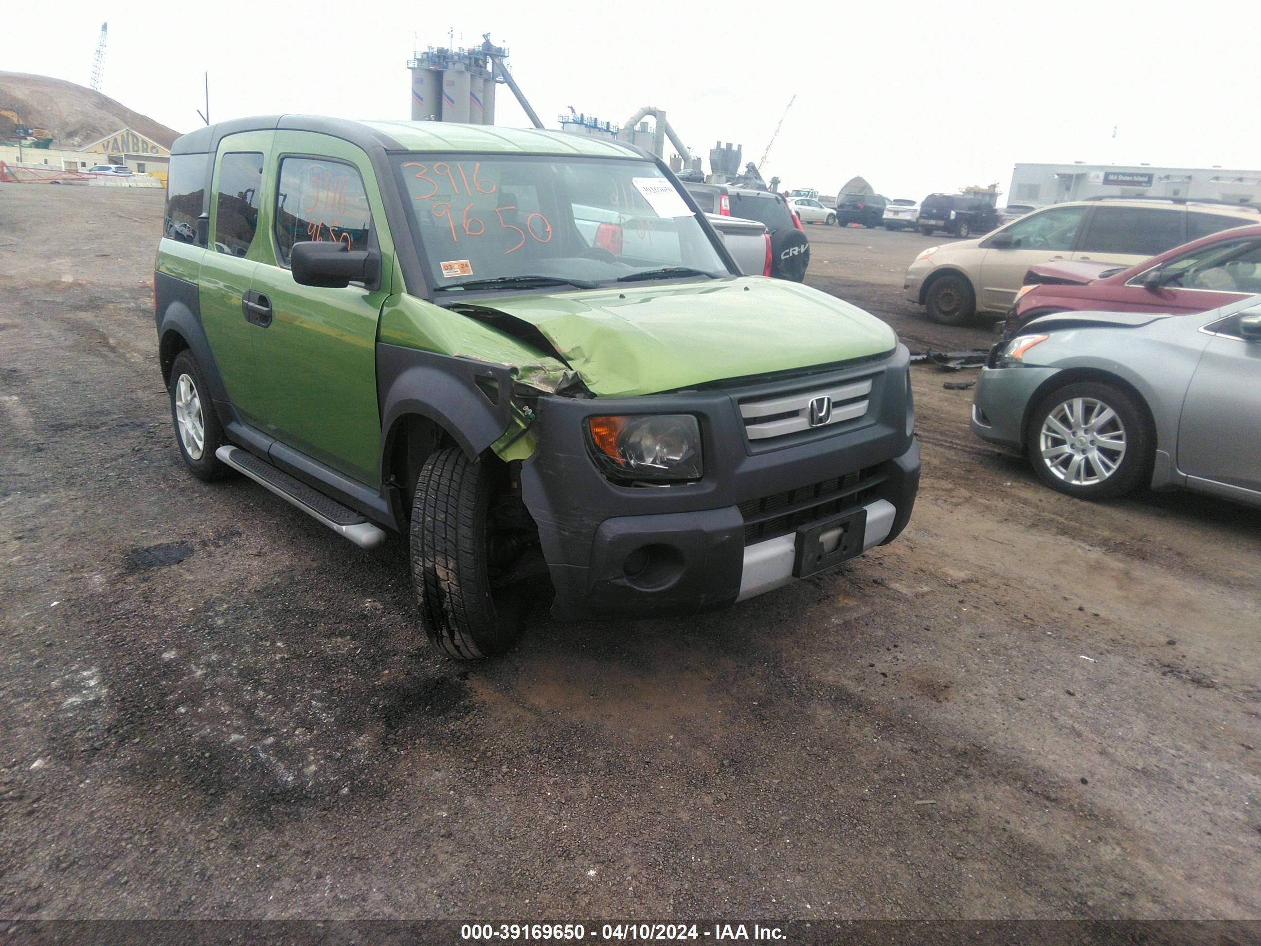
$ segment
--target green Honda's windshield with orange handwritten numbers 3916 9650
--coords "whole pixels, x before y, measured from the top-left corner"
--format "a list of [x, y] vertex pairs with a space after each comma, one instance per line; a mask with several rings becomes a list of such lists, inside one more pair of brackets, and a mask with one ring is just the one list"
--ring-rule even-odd
[[439, 289], [521, 288], [527, 276], [543, 285], [730, 275], [697, 216], [651, 161], [411, 154], [395, 163]]

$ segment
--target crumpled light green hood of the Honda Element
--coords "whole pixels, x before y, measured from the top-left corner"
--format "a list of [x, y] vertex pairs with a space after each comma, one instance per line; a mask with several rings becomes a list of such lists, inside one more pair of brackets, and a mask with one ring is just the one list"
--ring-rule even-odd
[[482, 296], [475, 305], [535, 325], [605, 397], [870, 357], [898, 343], [855, 305], [763, 277]]

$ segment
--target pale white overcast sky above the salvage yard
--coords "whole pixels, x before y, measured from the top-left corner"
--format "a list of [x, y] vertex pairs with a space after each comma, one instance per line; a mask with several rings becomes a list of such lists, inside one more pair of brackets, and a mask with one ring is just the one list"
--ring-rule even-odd
[[[918, 199], [991, 182], [1005, 193], [1015, 161], [1261, 164], [1261, 124], [1238, 92], [1256, 79], [1250, 10], [1120, 0], [55, 0], [6, 9], [0, 68], [86, 86], [106, 18], [101, 91], [179, 131], [200, 124], [203, 71], [212, 120], [410, 119], [414, 43], [446, 45], [453, 29], [455, 45], [477, 45], [489, 32], [549, 127], [570, 105], [617, 124], [656, 106], [709, 170], [716, 140], [759, 160], [796, 95], [768, 179], [835, 193], [861, 174], [879, 193]], [[502, 86], [497, 124], [528, 125]]]

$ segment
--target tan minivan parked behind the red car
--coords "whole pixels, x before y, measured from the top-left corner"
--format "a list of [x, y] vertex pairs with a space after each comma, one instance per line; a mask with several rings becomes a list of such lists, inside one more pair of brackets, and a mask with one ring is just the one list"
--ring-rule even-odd
[[1044, 207], [979, 240], [931, 246], [907, 270], [903, 295], [928, 318], [958, 325], [976, 313], [1002, 315], [1030, 266], [1083, 260], [1132, 266], [1229, 227], [1261, 223], [1236, 204], [1169, 198], [1098, 198]]

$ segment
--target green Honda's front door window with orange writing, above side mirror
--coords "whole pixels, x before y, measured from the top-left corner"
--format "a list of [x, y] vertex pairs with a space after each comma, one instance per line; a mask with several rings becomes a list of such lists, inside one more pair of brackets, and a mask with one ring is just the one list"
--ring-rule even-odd
[[285, 158], [276, 189], [276, 247], [289, 265], [294, 243], [343, 242], [368, 248], [372, 211], [363, 178], [349, 164], [320, 158]]

